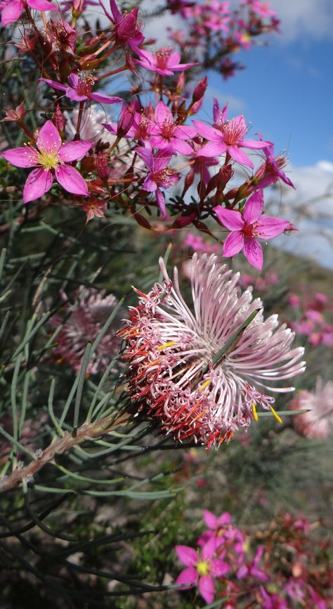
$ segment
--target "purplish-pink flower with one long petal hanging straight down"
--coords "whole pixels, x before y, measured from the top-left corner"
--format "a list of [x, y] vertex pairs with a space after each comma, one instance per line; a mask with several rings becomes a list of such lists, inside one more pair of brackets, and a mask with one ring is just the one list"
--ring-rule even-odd
[[162, 217], [166, 218], [166, 207], [164, 194], [159, 190], [159, 186], [162, 188], [169, 188], [177, 184], [179, 180], [178, 172], [174, 169], [168, 168], [172, 152], [170, 149], [164, 149], [159, 151], [155, 156], [152, 151], [147, 148], [138, 147], [136, 153], [142, 158], [147, 165], [148, 175], [143, 182], [143, 189], [148, 192], [155, 192], [157, 205], [161, 210]]

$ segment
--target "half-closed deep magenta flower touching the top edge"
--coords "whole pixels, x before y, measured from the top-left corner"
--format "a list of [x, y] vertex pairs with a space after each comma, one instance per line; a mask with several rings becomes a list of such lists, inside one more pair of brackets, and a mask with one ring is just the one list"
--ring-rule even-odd
[[115, 40], [120, 46], [131, 46], [134, 51], [140, 46], [145, 37], [141, 34], [141, 24], [138, 23], [138, 7], [133, 8], [129, 13], [121, 13], [115, 0], [110, 0], [112, 15], [108, 13], [100, 1], [105, 15], [110, 19], [115, 27]]

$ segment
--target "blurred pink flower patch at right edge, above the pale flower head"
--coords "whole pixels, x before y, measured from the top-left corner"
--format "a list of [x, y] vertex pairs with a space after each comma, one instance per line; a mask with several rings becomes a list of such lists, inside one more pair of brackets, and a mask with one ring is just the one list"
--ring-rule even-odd
[[304, 290], [302, 296], [289, 295], [289, 304], [294, 309], [297, 320], [290, 323], [296, 334], [308, 337], [312, 346], [320, 344], [333, 347], [333, 325], [325, 320], [325, 310], [332, 308], [325, 294], [316, 292], [309, 296]]

